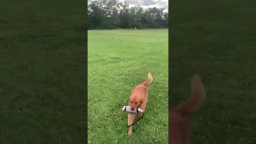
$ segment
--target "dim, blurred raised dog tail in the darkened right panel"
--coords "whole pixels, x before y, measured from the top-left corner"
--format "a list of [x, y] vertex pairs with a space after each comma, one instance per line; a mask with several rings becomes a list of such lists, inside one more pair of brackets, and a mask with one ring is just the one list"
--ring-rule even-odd
[[205, 87], [201, 81], [201, 77], [195, 74], [193, 78], [191, 78], [190, 98], [187, 101], [180, 103], [180, 105], [175, 108], [175, 111], [182, 117], [193, 114], [202, 106], [205, 95]]

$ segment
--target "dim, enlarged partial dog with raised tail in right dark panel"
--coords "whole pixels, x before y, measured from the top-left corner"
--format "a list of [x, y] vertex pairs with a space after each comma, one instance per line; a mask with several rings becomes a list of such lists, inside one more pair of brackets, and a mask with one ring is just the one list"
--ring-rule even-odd
[[201, 77], [195, 74], [191, 78], [190, 98], [169, 110], [169, 144], [189, 144], [190, 129], [185, 118], [202, 106], [205, 95]]

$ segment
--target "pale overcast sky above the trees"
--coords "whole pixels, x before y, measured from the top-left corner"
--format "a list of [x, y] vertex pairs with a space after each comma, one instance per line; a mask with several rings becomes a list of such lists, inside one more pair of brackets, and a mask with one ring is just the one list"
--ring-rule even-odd
[[[90, 4], [93, 0], [88, 0]], [[117, 3], [124, 2], [122, 0], [116, 0]], [[147, 9], [148, 7], [157, 7], [168, 9], [168, 0], [125, 0], [129, 4], [129, 7], [140, 5], [141, 7]]]

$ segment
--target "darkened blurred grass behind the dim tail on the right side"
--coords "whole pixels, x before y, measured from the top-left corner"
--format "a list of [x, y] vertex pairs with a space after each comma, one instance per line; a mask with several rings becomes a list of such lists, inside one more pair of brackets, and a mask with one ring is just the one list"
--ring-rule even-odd
[[206, 100], [188, 118], [191, 143], [256, 143], [256, 1], [172, 1], [170, 102], [202, 75]]

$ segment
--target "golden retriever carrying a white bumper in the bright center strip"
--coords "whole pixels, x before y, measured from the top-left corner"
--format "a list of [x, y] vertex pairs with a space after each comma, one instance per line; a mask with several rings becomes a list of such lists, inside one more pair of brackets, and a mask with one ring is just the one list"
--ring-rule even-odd
[[[153, 77], [150, 73], [148, 73], [148, 80], [144, 83], [141, 83], [133, 89], [130, 99], [129, 99], [129, 106], [132, 110], [140, 108], [143, 111], [146, 109], [147, 100], [148, 100], [148, 90], [147, 86], [153, 81]], [[136, 115], [128, 114], [128, 125], [133, 123], [133, 120]], [[139, 116], [142, 116], [142, 113], [139, 113]], [[132, 134], [132, 126], [129, 127], [128, 135], [131, 136]]]

